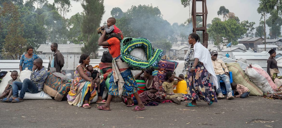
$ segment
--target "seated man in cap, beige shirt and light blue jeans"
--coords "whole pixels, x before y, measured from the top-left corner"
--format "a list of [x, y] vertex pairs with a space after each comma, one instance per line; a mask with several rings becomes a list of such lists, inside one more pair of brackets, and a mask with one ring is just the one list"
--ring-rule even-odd
[[220, 80], [222, 80], [225, 84], [227, 99], [234, 99], [234, 96], [232, 96], [232, 88], [230, 84], [228, 68], [226, 67], [226, 65], [221, 59], [217, 59], [217, 55], [218, 55], [217, 51], [215, 50], [211, 51], [211, 62], [213, 64], [213, 69], [215, 71], [215, 75], [217, 77], [217, 82], [219, 86], [219, 89], [216, 90], [217, 99], [224, 98], [220, 87], [220, 82], [219, 82]]

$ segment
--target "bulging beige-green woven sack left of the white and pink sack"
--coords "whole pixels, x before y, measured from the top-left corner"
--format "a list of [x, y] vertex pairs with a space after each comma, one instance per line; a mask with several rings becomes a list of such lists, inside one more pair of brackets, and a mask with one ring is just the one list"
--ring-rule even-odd
[[228, 63], [226, 66], [229, 71], [232, 71], [233, 82], [247, 87], [251, 96], [263, 96], [261, 89], [250, 80], [237, 62]]

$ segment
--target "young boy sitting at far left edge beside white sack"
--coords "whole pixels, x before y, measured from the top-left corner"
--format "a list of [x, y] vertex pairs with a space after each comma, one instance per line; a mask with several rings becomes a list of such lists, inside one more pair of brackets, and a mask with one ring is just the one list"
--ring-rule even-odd
[[1, 101], [9, 100], [10, 97], [12, 96], [12, 94], [13, 94], [12, 83], [14, 81], [21, 82], [21, 80], [19, 78], [17, 78], [18, 77], [18, 72], [17, 71], [12, 71], [11, 77], [12, 77], [12, 79], [10, 81], [8, 81], [8, 85], [6, 86], [6, 88], [5, 88], [4, 92], [2, 93], [2, 95], [0, 96], [0, 99], [5, 97], [5, 96], [7, 96], [7, 95], [8, 96], [6, 98], [4, 98], [4, 99], [1, 99]]

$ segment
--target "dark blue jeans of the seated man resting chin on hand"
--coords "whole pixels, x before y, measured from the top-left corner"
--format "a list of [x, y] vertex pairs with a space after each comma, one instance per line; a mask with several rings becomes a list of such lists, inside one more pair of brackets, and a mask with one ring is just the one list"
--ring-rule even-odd
[[[23, 97], [25, 97], [25, 92], [29, 92], [29, 93], [39, 92], [36, 85], [30, 79], [24, 79], [23, 83], [19, 81], [14, 81], [12, 85], [13, 85], [12, 86], [13, 97], [19, 97], [20, 99], [23, 99]], [[20, 93], [19, 90], [21, 90]]]

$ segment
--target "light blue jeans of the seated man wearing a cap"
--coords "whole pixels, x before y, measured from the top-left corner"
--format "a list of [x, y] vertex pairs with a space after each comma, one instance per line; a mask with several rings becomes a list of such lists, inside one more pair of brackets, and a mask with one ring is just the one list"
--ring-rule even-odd
[[222, 75], [216, 75], [216, 78], [217, 78], [217, 83], [218, 83], [218, 89], [216, 90], [216, 93], [219, 94], [219, 93], [222, 93], [221, 91], [221, 87], [220, 87], [220, 80], [222, 80], [225, 84], [225, 87], [226, 87], [226, 94], [228, 94], [229, 92], [232, 93], [232, 88], [231, 88], [231, 84], [230, 84], [230, 78], [228, 75], [226, 74], [222, 74]]

